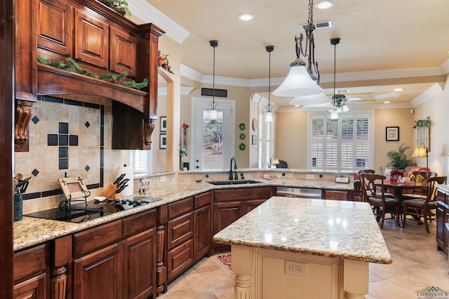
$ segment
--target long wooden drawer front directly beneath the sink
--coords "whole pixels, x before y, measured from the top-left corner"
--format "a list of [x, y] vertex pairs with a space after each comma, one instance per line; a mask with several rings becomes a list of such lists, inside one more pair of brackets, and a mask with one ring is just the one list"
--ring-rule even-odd
[[273, 196], [272, 187], [261, 188], [238, 188], [238, 189], [225, 189], [215, 190], [215, 202], [229, 202], [236, 200], [262, 200], [269, 199]]

